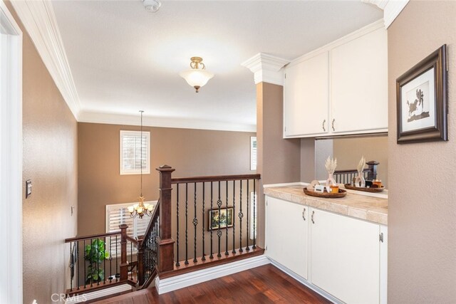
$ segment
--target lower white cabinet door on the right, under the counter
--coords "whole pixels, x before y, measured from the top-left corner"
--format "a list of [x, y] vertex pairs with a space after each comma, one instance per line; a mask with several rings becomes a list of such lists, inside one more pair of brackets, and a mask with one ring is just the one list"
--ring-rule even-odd
[[345, 303], [378, 303], [380, 225], [310, 209], [311, 282]]

